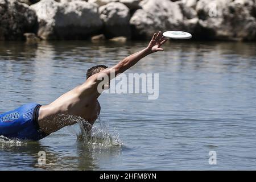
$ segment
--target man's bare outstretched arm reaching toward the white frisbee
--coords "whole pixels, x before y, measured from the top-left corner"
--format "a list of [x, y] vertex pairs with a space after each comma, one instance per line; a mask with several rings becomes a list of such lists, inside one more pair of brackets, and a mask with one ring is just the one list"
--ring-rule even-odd
[[166, 43], [167, 40], [168, 39], [164, 38], [164, 36], [162, 35], [162, 32], [158, 32], [158, 34], [155, 33], [146, 48], [144, 48], [142, 51], [133, 53], [132, 55], [125, 57], [125, 59], [121, 60], [112, 68], [104, 69], [104, 71], [101, 71], [100, 73], [96, 73], [95, 75], [89, 77], [88, 80], [85, 82], [85, 85], [87, 85], [86, 87], [88, 88], [89, 85], [90, 88], [97, 89], [98, 83], [101, 82], [101, 79], [98, 78], [103, 77], [103, 75], [108, 75], [110, 79], [113, 79], [114, 77], [110, 77], [111, 73], [114, 73], [114, 76], [117, 76], [119, 73], [125, 72], [127, 69], [138, 63], [138, 61], [141, 60], [143, 57], [146, 57], [147, 55], [150, 55], [151, 53], [157, 51], [163, 51], [163, 48], [161, 46]]

